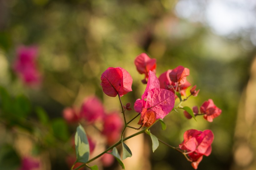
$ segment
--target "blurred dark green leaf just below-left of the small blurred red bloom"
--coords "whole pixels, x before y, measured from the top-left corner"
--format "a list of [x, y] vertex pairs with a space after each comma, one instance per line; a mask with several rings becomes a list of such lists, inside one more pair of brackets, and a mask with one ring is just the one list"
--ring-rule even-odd
[[52, 121], [52, 130], [55, 137], [63, 141], [69, 138], [69, 131], [66, 122], [63, 119], [56, 119]]

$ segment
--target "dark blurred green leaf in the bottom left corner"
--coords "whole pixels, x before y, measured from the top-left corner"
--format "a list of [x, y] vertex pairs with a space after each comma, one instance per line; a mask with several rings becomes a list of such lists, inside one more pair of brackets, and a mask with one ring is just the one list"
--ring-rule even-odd
[[16, 151], [8, 144], [0, 148], [0, 170], [17, 170], [21, 163]]

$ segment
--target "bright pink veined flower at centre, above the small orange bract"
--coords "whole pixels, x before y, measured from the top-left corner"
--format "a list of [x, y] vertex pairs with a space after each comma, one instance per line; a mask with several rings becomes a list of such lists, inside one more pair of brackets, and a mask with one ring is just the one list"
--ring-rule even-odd
[[[136, 100], [134, 110], [138, 113], [141, 113], [144, 109], [154, 111], [156, 119], [163, 119], [173, 109], [174, 102], [174, 93], [160, 89], [158, 78], [155, 73], [150, 71], [145, 92], [142, 94], [141, 99]], [[140, 120], [142, 120], [142, 117]]]

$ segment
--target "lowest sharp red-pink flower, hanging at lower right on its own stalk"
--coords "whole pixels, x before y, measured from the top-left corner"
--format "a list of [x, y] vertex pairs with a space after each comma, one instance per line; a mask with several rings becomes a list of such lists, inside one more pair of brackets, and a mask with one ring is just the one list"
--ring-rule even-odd
[[185, 131], [183, 142], [179, 145], [181, 150], [185, 150], [188, 153], [188, 158], [191, 160], [191, 165], [194, 169], [197, 169], [198, 164], [203, 159], [203, 156], [209, 156], [212, 148], [211, 144], [214, 139], [214, 135], [211, 130], [199, 131], [190, 129]]

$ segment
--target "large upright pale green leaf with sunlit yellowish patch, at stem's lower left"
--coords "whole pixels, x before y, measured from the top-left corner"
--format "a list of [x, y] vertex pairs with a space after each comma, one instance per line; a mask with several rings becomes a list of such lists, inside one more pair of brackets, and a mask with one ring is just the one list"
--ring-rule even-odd
[[79, 125], [75, 135], [76, 162], [86, 163], [89, 160], [90, 148], [84, 128]]

